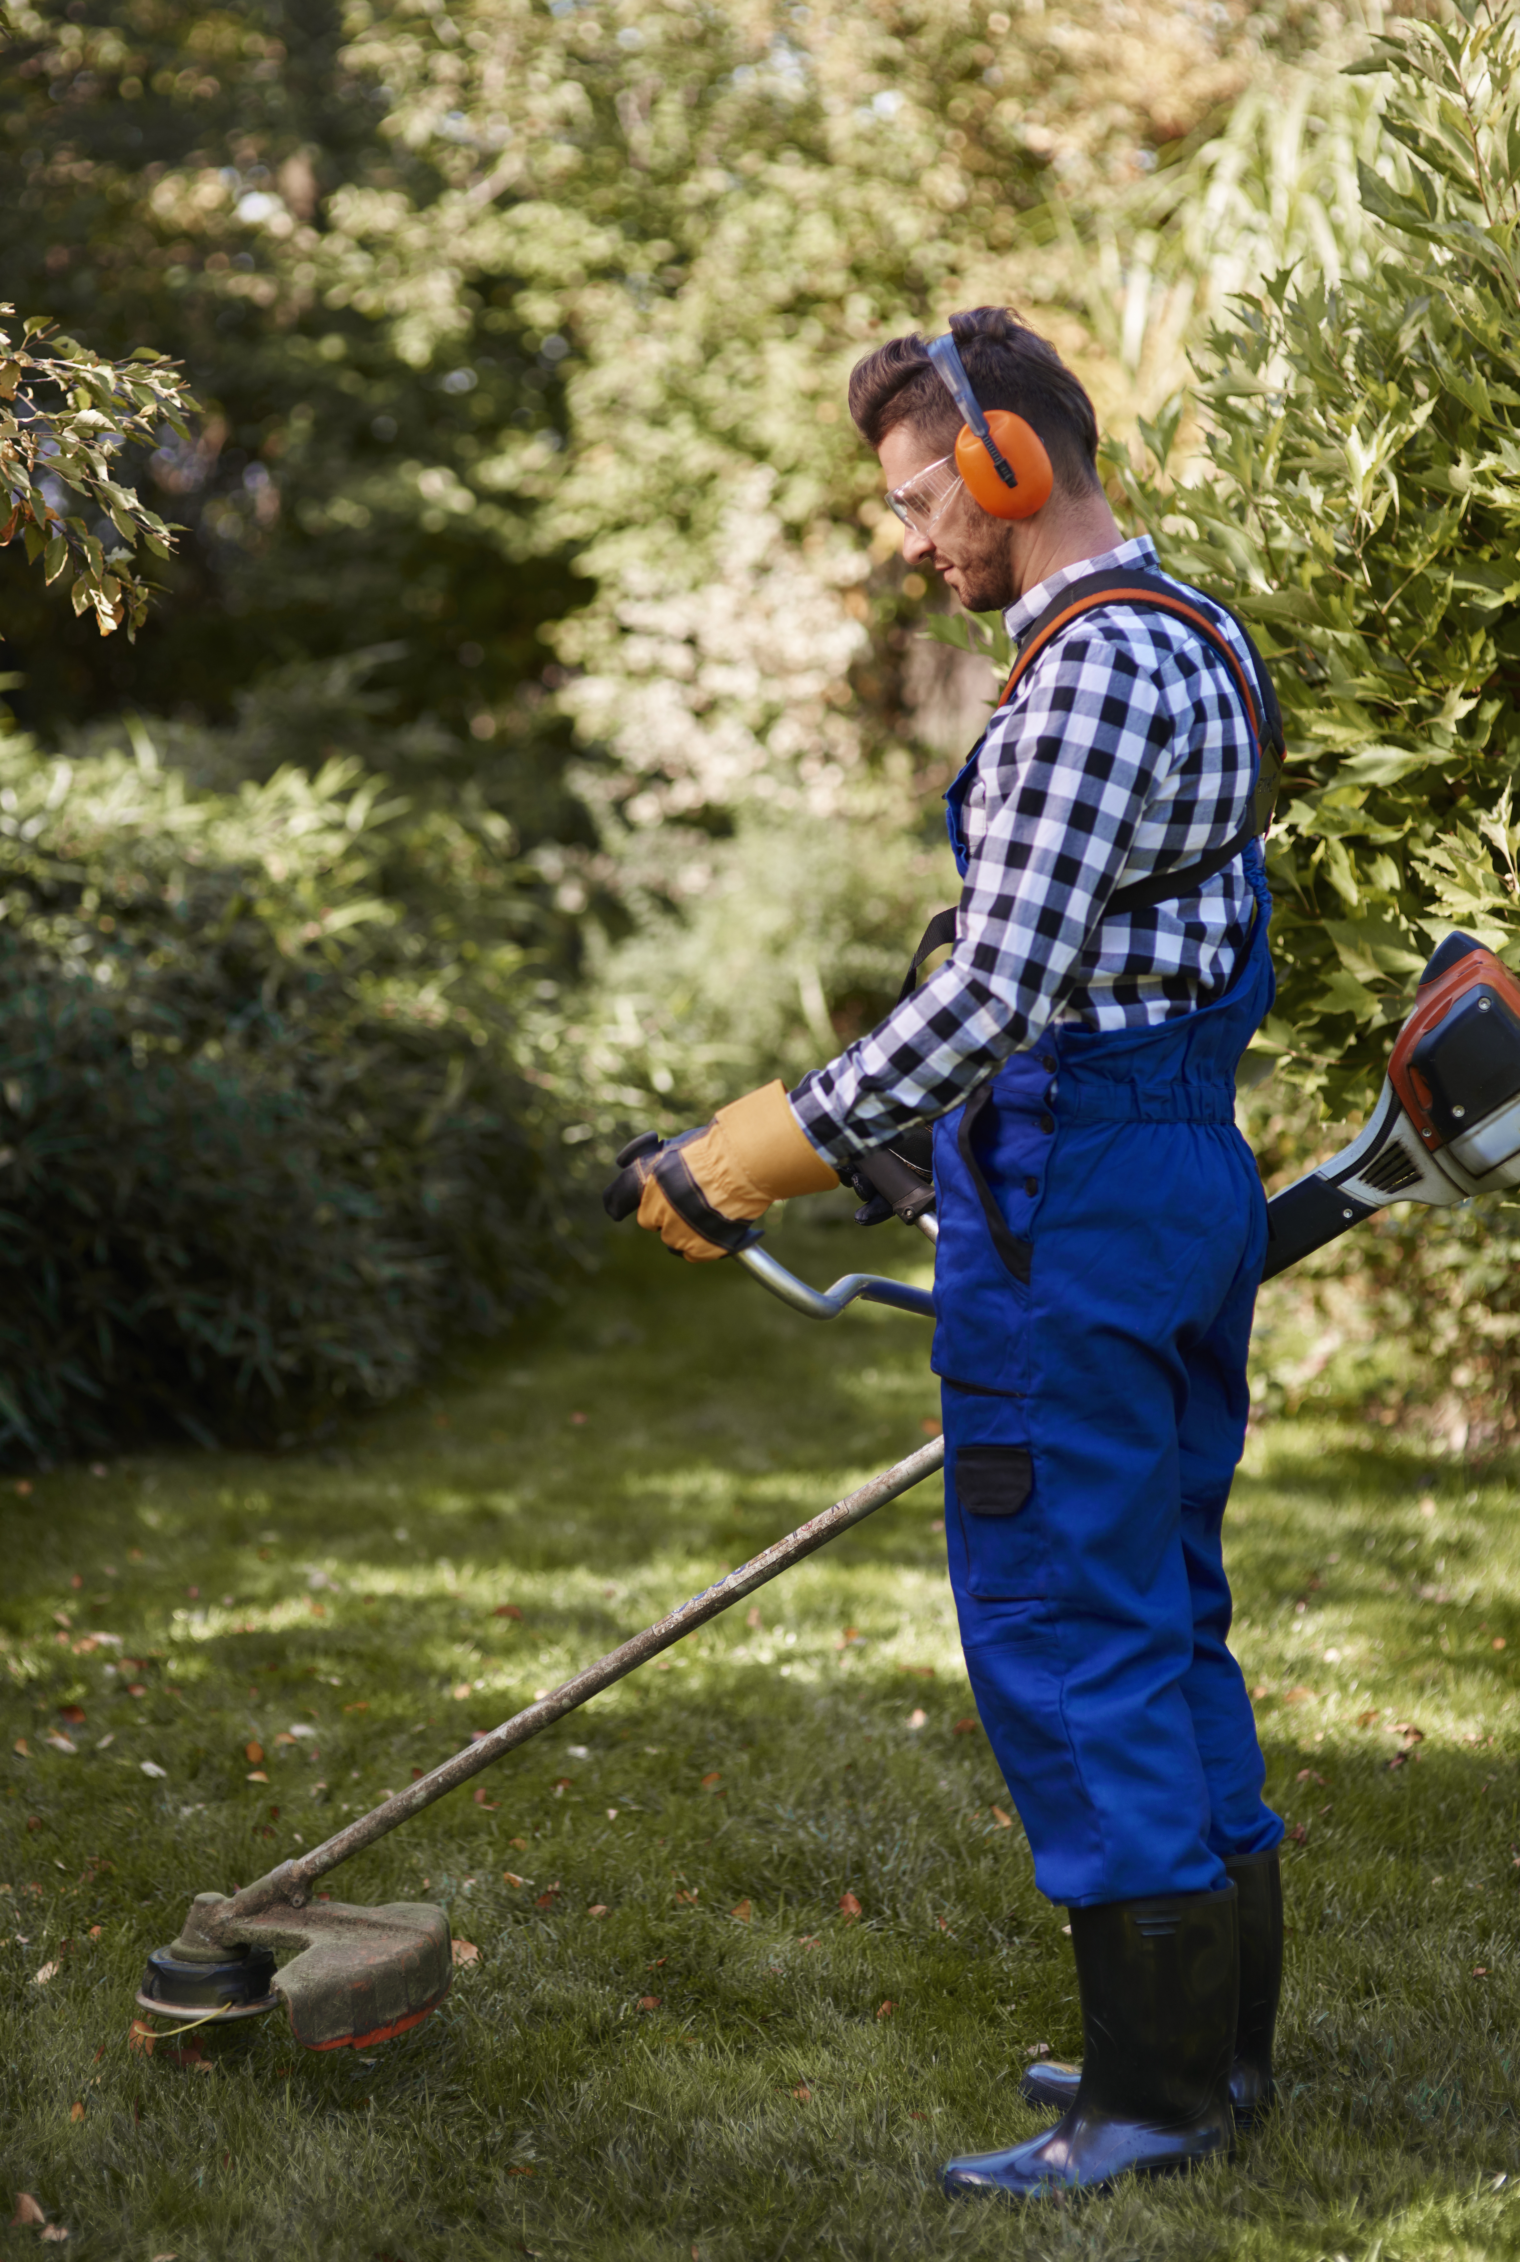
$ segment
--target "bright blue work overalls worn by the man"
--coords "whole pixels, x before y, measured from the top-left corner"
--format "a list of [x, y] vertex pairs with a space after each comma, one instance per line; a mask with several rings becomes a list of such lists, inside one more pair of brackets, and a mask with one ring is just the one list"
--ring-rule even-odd
[[[975, 762], [945, 796], [961, 875]], [[1036, 1884], [1072, 1907], [1208, 1893], [1282, 1837], [1221, 1556], [1267, 1246], [1235, 1129], [1273, 995], [1255, 844], [1246, 871], [1221, 998], [1054, 1025], [934, 1124], [950, 1583]]]

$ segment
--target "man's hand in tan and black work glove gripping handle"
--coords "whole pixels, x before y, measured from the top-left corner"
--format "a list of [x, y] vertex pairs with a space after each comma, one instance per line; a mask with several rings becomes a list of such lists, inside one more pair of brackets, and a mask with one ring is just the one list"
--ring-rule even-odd
[[808, 1142], [776, 1079], [697, 1131], [672, 1140], [645, 1131], [631, 1140], [602, 1208], [615, 1219], [638, 1210], [647, 1233], [658, 1233], [688, 1264], [706, 1264], [744, 1249], [753, 1219], [774, 1201], [835, 1185], [839, 1174]]

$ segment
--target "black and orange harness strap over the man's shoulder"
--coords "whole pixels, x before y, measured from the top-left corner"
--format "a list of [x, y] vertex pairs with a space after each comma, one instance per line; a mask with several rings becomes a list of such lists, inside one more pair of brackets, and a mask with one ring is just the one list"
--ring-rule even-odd
[[[1111, 912], [1151, 912], [1158, 903], [1174, 903], [1178, 896], [1190, 896], [1203, 880], [1212, 880], [1215, 873], [1224, 871], [1226, 864], [1249, 848], [1258, 832], [1264, 832], [1271, 823], [1271, 810], [1278, 798], [1278, 778], [1282, 776], [1282, 708], [1278, 706], [1278, 694], [1273, 690], [1271, 676], [1267, 674], [1267, 663], [1255, 649], [1255, 640], [1246, 629], [1244, 620], [1221, 604], [1219, 597], [1208, 597], [1203, 590], [1203, 604], [1212, 604], [1224, 613], [1246, 647], [1251, 658], [1251, 676], [1246, 676], [1240, 665], [1240, 656], [1230, 647], [1228, 638], [1219, 633], [1217, 624], [1208, 613], [1192, 604], [1192, 590], [1167, 581], [1165, 575], [1149, 572], [1145, 566], [1135, 568], [1113, 568], [1108, 572], [1090, 572], [1079, 581], [1070, 581], [1052, 604], [1045, 606], [1040, 618], [1025, 633], [1018, 647], [1018, 658], [1013, 663], [1013, 674], [1002, 688], [1002, 699], [998, 706], [1007, 706], [1022, 679], [1029, 674], [1038, 661], [1045, 645], [1061, 633], [1072, 620], [1081, 620], [1083, 613], [1095, 613], [1108, 604], [1138, 604], [1149, 606], [1158, 613], [1172, 613], [1176, 620], [1185, 620], [1203, 642], [1212, 645], [1224, 665], [1235, 679], [1242, 703], [1246, 708], [1246, 722], [1251, 726], [1251, 737], [1255, 744], [1255, 792], [1251, 794], [1251, 808], [1246, 810], [1246, 821], [1240, 832], [1235, 832], [1221, 848], [1210, 848], [1208, 855], [1197, 857], [1190, 864], [1174, 864], [1167, 871], [1156, 871], [1147, 880], [1131, 880], [1129, 887], [1115, 887], [1104, 905], [1104, 916]], [[909, 998], [918, 979], [918, 968], [932, 950], [943, 943], [955, 943], [955, 921], [957, 914], [936, 912], [930, 925], [923, 930], [923, 941], [914, 952], [914, 961], [907, 968], [907, 979], [898, 993], [898, 1004]]]

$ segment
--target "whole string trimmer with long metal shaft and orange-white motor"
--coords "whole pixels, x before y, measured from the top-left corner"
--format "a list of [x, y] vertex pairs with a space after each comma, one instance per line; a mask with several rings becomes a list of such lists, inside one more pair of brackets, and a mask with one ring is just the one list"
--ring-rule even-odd
[[[624, 1149], [620, 1163], [631, 1154]], [[864, 1172], [905, 1224], [936, 1237], [934, 1194], [921, 1172], [887, 1149], [866, 1158]], [[1520, 982], [1470, 936], [1448, 934], [1425, 966], [1366, 1129], [1269, 1201], [1264, 1278], [1323, 1249], [1387, 1201], [1443, 1208], [1511, 1185], [1520, 1185]], [[875, 1274], [848, 1274], [830, 1289], [808, 1287], [760, 1249], [758, 1237], [740, 1251], [740, 1264], [812, 1319], [835, 1319], [855, 1298], [925, 1319], [934, 1314], [923, 1289]], [[443, 1909], [312, 1900], [317, 1880], [912, 1491], [943, 1466], [943, 1457], [941, 1439], [921, 1445], [312, 1853], [280, 1862], [240, 1893], [197, 1893], [179, 1939], [147, 1959], [140, 2006], [199, 2022], [249, 2018], [283, 2002], [308, 2049], [366, 2047], [416, 2027], [443, 2002], [452, 1977]], [[290, 1961], [276, 1968], [278, 1954]]]

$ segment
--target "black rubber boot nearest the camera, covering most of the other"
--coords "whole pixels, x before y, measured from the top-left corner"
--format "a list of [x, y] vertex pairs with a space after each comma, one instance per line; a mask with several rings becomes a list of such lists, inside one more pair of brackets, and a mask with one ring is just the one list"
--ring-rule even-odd
[[1233, 2149], [1235, 1887], [1072, 1909], [1072, 1950], [1083, 2040], [1077, 2097], [1045, 2135], [950, 2160], [952, 2199], [1095, 2190]]

